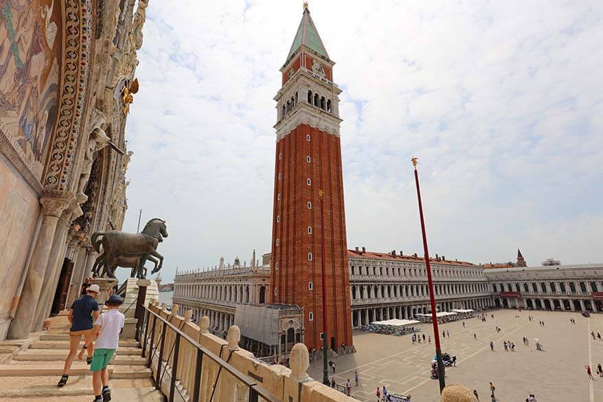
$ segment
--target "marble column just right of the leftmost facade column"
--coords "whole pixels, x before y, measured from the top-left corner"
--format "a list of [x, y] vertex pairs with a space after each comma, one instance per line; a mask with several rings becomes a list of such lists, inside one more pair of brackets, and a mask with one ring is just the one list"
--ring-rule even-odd
[[69, 223], [81, 214], [82, 210], [76, 205], [76, 210], [67, 208], [67, 210], [62, 212], [58, 219], [58, 224], [54, 233], [54, 241], [52, 242], [52, 250], [48, 258], [48, 268], [46, 269], [46, 275], [44, 277], [45, 286], [42, 288], [40, 300], [38, 300], [38, 306], [36, 307], [36, 319], [34, 320], [33, 331], [42, 330], [44, 320], [50, 313], [52, 300], [58, 286], [60, 269], [62, 268], [65, 252], [67, 251], [67, 232], [69, 231]]

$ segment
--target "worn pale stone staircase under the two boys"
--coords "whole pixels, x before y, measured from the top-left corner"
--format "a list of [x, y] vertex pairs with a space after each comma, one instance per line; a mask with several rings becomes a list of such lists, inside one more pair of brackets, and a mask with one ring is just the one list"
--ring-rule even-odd
[[[65, 316], [52, 320], [52, 331], [48, 333], [0, 342], [0, 402], [81, 402], [94, 399], [92, 373], [86, 361], [76, 358], [67, 386], [56, 386], [69, 353], [69, 335]], [[112, 401], [166, 400], [161, 392], [155, 390], [151, 371], [146, 368], [146, 359], [141, 354], [135, 339], [120, 339], [120, 348], [109, 365]]]

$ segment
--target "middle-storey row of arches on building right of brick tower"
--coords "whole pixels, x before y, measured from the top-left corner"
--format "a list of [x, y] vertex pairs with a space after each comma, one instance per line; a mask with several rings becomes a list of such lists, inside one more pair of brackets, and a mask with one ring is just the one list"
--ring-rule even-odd
[[[427, 284], [352, 284], [350, 286], [352, 300], [378, 298], [408, 298], [428, 296]], [[435, 295], [470, 295], [470, 293], [486, 293], [485, 283], [435, 284]]]

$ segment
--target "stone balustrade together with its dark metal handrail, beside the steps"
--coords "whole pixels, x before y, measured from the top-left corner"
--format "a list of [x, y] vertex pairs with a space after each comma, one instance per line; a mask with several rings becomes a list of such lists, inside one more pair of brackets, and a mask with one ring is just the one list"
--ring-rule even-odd
[[209, 402], [352, 402], [341, 392], [308, 377], [308, 349], [296, 344], [290, 368], [258, 361], [238, 347], [240, 329], [231, 326], [227, 340], [208, 333], [209, 319], [190, 322], [191, 311], [149, 304], [139, 326], [143, 355], [153, 379], [170, 401]]

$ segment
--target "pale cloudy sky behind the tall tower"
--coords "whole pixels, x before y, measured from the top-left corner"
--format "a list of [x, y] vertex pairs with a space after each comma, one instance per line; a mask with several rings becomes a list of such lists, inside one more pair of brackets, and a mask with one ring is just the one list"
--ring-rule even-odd
[[[311, 1], [343, 89], [348, 246], [603, 262], [601, 1]], [[301, 1], [152, 0], [124, 230], [168, 221], [163, 278], [270, 252], [278, 69]]]

